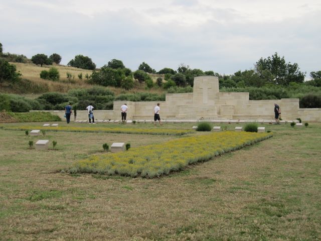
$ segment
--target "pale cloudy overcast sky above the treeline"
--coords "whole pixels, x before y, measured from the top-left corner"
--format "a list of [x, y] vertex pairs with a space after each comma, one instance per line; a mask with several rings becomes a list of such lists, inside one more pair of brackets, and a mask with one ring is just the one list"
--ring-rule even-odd
[[233, 74], [277, 52], [306, 77], [321, 70], [320, 0], [0, 0], [0, 13], [4, 52], [28, 58]]

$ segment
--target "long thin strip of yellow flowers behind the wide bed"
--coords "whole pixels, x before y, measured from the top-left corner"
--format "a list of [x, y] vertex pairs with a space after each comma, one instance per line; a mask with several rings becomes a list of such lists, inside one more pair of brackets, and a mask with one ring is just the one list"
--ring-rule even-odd
[[130, 128], [105, 128], [105, 127], [4, 127], [5, 130], [45, 130], [62, 132], [105, 132], [105, 133], [123, 133], [123, 134], [147, 134], [147, 135], [174, 135], [182, 136], [193, 133], [192, 130], [175, 129], [130, 129]]

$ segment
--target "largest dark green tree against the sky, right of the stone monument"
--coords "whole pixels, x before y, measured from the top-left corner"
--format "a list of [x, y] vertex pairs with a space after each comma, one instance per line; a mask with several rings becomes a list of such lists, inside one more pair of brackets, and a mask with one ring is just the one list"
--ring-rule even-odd
[[290, 82], [303, 83], [305, 76], [305, 73], [299, 71], [297, 63], [285, 63], [284, 56], [280, 58], [277, 53], [267, 59], [260, 58], [255, 64], [255, 71], [260, 77], [263, 71], [269, 71], [275, 77], [273, 84], [284, 86]]

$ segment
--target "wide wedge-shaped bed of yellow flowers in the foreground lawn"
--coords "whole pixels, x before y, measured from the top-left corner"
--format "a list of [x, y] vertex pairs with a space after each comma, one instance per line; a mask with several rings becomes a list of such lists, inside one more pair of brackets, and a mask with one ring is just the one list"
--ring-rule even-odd
[[270, 133], [222, 132], [181, 138], [162, 144], [131, 148], [122, 153], [92, 156], [76, 162], [68, 172], [152, 178], [182, 170], [192, 163], [208, 161], [214, 156], [270, 137]]

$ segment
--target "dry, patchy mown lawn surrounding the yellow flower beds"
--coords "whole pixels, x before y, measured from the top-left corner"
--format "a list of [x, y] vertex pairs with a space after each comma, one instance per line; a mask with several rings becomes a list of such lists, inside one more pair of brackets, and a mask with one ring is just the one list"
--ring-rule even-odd
[[[273, 137], [152, 179], [61, 170], [103, 154], [104, 143], [136, 148], [208, 134], [87, 130], [31, 137], [23, 130], [7, 130], [42, 124], [0, 124], [0, 240], [321, 239], [320, 123], [307, 128], [259, 125]], [[111, 125], [189, 130], [194, 124], [70, 127]], [[221, 124], [223, 130], [236, 126]], [[40, 139], [50, 140], [49, 150], [29, 149], [29, 141]]]

